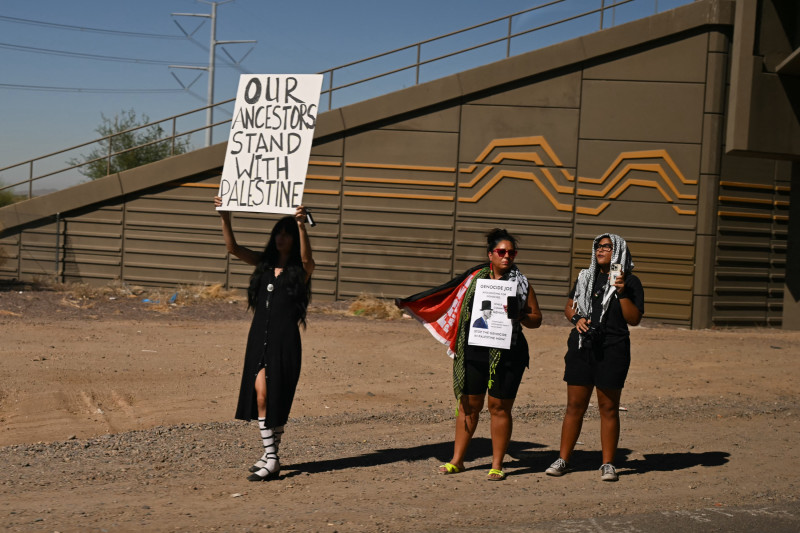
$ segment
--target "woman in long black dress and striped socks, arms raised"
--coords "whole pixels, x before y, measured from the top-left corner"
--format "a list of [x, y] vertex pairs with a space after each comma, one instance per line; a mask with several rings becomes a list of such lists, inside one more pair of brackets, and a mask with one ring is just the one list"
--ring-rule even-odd
[[[222, 199], [214, 197], [220, 207]], [[314, 271], [311, 243], [306, 233], [305, 207], [275, 223], [263, 252], [236, 242], [229, 211], [219, 211], [228, 253], [255, 270], [247, 290], [254, 310], [247, 337], [236, 418], [258, 419], [264, 454], [250, 468], [250, 481], [273, 479], [280, 472], [278, 447], [289, 418], [300, 378], [300, 325], [305, 327]]]

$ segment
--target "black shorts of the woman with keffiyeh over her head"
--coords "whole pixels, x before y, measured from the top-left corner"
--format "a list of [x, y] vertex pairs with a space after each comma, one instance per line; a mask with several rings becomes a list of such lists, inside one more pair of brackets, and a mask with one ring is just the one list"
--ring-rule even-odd
[[568, 385], [595, 386], [598, 389], [621, 389], [631, 366], [631, 341], [621, 337], [599, 349], [578, 349], [578, 333], [573, 329], [567, 339], [564, 356], [564, 381]]

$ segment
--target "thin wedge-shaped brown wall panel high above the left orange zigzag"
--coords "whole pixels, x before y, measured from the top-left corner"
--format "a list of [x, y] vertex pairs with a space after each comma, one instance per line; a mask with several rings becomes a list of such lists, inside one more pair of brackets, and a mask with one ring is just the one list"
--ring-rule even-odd
[[[519, 85], [519, 84], [515, 84]], [[470, 104], [510, 105], [520, 107], [580, 107], [581, 73], [571, 72], [557, 77], [542, 77]]]

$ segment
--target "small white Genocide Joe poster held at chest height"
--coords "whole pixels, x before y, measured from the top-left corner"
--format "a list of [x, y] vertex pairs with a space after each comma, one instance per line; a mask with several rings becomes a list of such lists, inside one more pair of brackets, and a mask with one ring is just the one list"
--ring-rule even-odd
[[509, 349], [511, 347], [511, 319], [508, 318], [508, 297], [517, 295], [513, 281], [478, 280], [467, 343], [472, 346]]

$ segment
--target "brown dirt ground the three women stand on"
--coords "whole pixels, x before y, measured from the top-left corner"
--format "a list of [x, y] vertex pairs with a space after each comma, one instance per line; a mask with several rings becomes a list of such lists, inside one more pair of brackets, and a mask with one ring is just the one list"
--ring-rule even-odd
[[0, 291], [0, 530], [597, 531], [601, 517], [800, 510], [800, 332], [633, 328], [621, 475], [603, 483], [593, 408], [574, 472], [543, 473], [569, 332], [548, 313], [526, 330], [508, 478], [492, 483], [488, 413], [467, 470], [436, 473], [454, 424], [444, 347], [410, 319], [317, 305], [281, 478], [252, 483], [258, 432], [232, 419], [249, 319], [234, 300], [158, 311]]

